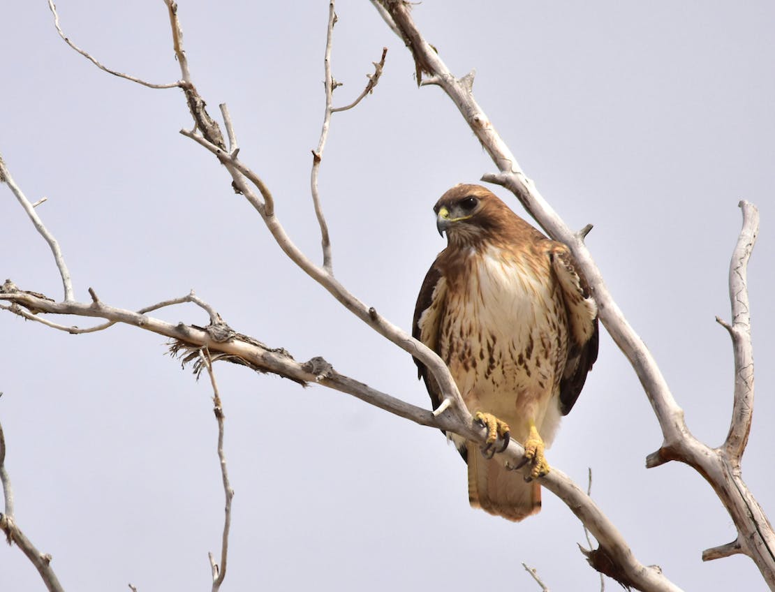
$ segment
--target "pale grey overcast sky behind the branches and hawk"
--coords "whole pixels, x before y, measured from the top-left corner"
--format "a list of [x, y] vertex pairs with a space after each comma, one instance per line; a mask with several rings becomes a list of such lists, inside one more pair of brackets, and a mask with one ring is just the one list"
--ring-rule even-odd
[[[176, 81], [161, 0], [60, 0], [74, 43], [109, 67]], [[226, 102], [240, 157], [316, 260], [308, 191], [323, 112], [327, 2], [181, 0], [195, 84]], [[292, 5], [292, 8], [291, 8]], [[332, 122], [320, 190], [337, 276], [409, 329], [444, 241], [432, 205], [494, 165], [437, 88], [418, 90], [408, 51], [369, 2], [339, 0], [335, 102], [373, 96]], [[756, 412], [742, 469], [775, 508], [775, 7], [771, 2], [441, 2], [414, 9], [426, 38], [474, 93], [529, 175], [587, 239], [608, 287], [652, 351], [691, 431], [715, 446], [732, 409], [727, 273], [740, 199], [760, 207], [749, 267]], [[284, 257], [226, 170], [178, 132], [180, 91], [109, 76], [57, 36], [44, 0], [5, 2], [0, 153], [60, 241], [77, 298], [141, 308], [194, 288], [239, 332], [297, 360], [429, 405], [411, 357]], [[521, 206], [500, 188], [520, 215]], [[0, 188], [0, 274], [61, 298], [47, 245]], [[191, 306], [158, 314], [205, 325]], [[84, 319], [67, 322], [88, 325]], [[128, 327], [70, 336], [0, 315], [0, 420], [16, 518], [66, 590], [203, 590], [219, 551], [222, 487], [208, 381]], [[544, 491], [515, 525], [469, 508], [466, 470], [437, 430], [347, 395], [216, 366], [236, 490], [223, 590], [597, 590], [584, 532]], [[687, 590], [764, 590], [743, 556], [702, 563], [735, 539], [711, 488], [686, 466], [644, 468], [661, 435], [605, 332], [549, 463], [592, 495], [636, 557]], [[608, 590], [617, 585], [611, 581]], [[0, 549], [0, 590], [43, 590], [19, 549]]]

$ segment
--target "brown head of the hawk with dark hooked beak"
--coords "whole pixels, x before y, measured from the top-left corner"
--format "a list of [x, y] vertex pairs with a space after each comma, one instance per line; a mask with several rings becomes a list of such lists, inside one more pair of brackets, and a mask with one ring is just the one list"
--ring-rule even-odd
[[471, 245], [498, 236], [516, 216], [503, 201], [481, 185], [456, 185], [436, 201], [436, 228], [449, 244]]

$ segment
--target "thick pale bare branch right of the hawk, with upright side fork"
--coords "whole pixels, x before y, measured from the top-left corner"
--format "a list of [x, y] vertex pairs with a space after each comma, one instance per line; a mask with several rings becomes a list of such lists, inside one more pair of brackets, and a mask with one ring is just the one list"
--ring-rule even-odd
[[[770, 589], [775, 590], [775, 533], [760, 505], [742, 480], [739, 468], [739, 459], [745, 449], [753, 409], [753, 357], [751, 356], [745, 270], [750, 250], [756, 239], [756, 208], [745, 202], [741, 203], [744, 216], [743, 230], [730, 270], [729, 289], [733, 324], [725, 325], [732, 334], [735, 348], [735, 404], [732, 425], [725, 446], [723, 449], [712, 449], [691, 435], [684, 422], [684, 411], [673, 398], [656, 361], [642, 339], [629, 325], [622, 310], [608, 291], [600, 270], [595, 265], [587, 246], [584, 245], [584, 236], [588, 228], [579, 232], [570, 230], [519, 167], [511, 150], [498, 135], [490, 119], [474, 98], [473, 73], [458, 78], [449, 71], [439, 54], [425, 40], [416, 26], [408, 2], [372, 0], [372, 3], [388, 26], [401, 36], [412, 52], [418, 84], [421, 86], [434, 84], [442, 88], [460, 110], [460, 114], [498, 167], [497, 174], [485, 174], [482, 180], [500, 184], [512, 191], [549, 236], [566, 243], [580, 263], [590, 283], [594, 299], [598, 303], [601, 322], [632, 364], [660, 422], [664, 441], [656, 453], [649, 455], [646, 466], [658, 466], [669, 460], [680, 460], [694, 467], [708, 480], [729, 511], [739, 533], [738, 539], [729, 545], [705, 552], [704, 559], [743, 552], [756, 563]], [[427, 74], [427, 77], [423, 79], [424, 74]], [[595, 534], [594, 531], [593, 534]], [[605, 542], [601, 541], [597, 534], [595, 538], [601, 543], [601, 547], [605, 548]], [[620, 558], [615, 557], [615, 559]], [[647, 587], [646, 582], [640, 579], [643, 570], [638, 564], [619, 563], [617, 567], [625, 577], [631, 578], [630, 582], [634, 587], [645, 587], [644, 589], [649, 590], [663, 589]], [[664, 581], [661, 574], [658, 579]]]

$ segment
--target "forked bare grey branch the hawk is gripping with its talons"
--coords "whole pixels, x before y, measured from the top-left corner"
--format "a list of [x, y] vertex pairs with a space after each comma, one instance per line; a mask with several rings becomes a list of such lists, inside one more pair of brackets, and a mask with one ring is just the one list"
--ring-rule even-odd
[[[184, 56], [182, 55], [183, 50], [180, 42], [181, 33], [180, 25], [177, 21], [176, 7], [170, 0], [165, 0], [165, 2], [170, 9], [169, 12], [173, 29], [175, 52], [178, 59], [181, 60], [181, 57]], [[427, 71], [427, 68], [425, 68], [425, 71]], [[363, 322], [366, 322], [367, 325], [370, 325], [372, 329], [425, 363], [432, 375], [436, 378], [439, 387], [444, 394], [443, 401], [445, 402], [439, 406], [440, 411], [438, 415], [406, 404], [404, 401], [392, 398], [387, 394], [374, 391], [374, 389], [367, 387], [365, 384], [358, 383], [353, 379], [341, 377], [341, 375], [338, 375], [330, 367], [325, 368], [325, 366], [329, 366], [327, 363], [324, 364], [324, 370], [320, 372], [317, 367], [319, 364], [313, 363], [315, 360], [310, 360], [307, 365], [302, 367], [300, 364], [288, 360], [287, 356], [277, 356], [274, 352], [267, 352], [267, 349], [263, 348], [256, 351], [255, 347], [246, 347], [246, 344], [251, 346], [254, 345], [250, 342], [250, 338], [210, 339], [206, 332], [200, 332], [200, 329], [193, 326], [186, 327], [185, 325], [177, 325], [173, 327], [172, 325], [159, 322], [156, 319], [144, 316], [142, 319], [137, 318], [129, 311], [120, 311], [119, 309], [108, 311], [108, 308], [104, 305], [99, 307], [98, 310], [91, 307], [77, 309], [71, 307], [69, 310], [64, 310], [62, 308], [56, 309], [56, 307], [53, 307], [50, 303], [45, 302], [44, 305], [47, 307], [47, 311], [98, 316], [104, 316], [109, 313], [111, 320], [118, 318], [121, 322], [128, 322], [129, 324], [141, 326], [143, 329], [160, 332], [164, 335], [174, 337], [174, 339], [179, 339], [182, 342], [191, 343], [194, 346], [206, 345], [211, 352], [220, 352], [226, 356], [232, 356], [235, 359], [243, 360], [243, 362], [247, 362], [246, 365], [260, 371], [276, 372], [281, 376], [291, 377], [294, 380], [300, 381], [311, 380], [312, 375], [312, 380], [315, 380], [319, 384], [353, 394], [370, 404], [391, 411], [396, 415], [401, 415], [401, 417], [411, 419], [422, 425], [431, 425], [444, 429], [447, 432], [457, 433], [464, 438], [475, 442], [484, 442], [485, 430], [479, 425], [474, 425], [472, 422], [470, 413], [460, 397], [460, 392], [449, 374], [446, 364], [443, 363], [439, 356], [416, 339], [413, 339], [406, 332], [399, 329], [396, 325], [392, 325], [386, 319], [382, 318], [381, 315], [377, 314], [377, 311], [375, 311], [374, 308], [367, 307], [367, 305], [364, 305], [361, 301], [356, 299], [353, 294], [350, 294], [342, 284], [339, 284], [325, 268], [318, 267], [308, 260], [304, 253], [301, 253], [301, 251], [298, 250], [298, 247], [292, 243], [277, 219], [277, 216], [274, 215], [274, 212], [268, 211], [269, 208], [267, 208], [267, 205], [270, 203], [271, 199], [268, 188], [266, 188], [263, 183], [256, 182], [256, 180], [258, 180], [256, 175], [248, 174], [250, 169], [239, 161], [235, 150], [233, 150], [233, 146], [230, 148], [229, 152], [226, 151], [226, 146], [223, 143], [219, 126], [217, 123], [213, 122], [212, 119], [208, 119], [206, 113], [203, 112], [205, 102], [198, 95], [194, 85], [191, 83], [188, 62], [181, 61], [181, 72], [185, 82], [184, 90], [186, 91], [189, 110], [191, 111], [195, 122], [197, 122], [197, 129], [199, 132], [196, 133], [195, 130], [191, 132], [184, 131], [182, 133], [211, 151], [215, 157], [218, 158], [219, 162], [226, 165], [226, 169], [232, 176], [233, 186], [239, 193], [245, 196], [254, 208], [256, 208], [278, 245], [281, 246], [281, 249], [284, 250], [294, 263], [297, 263], [302, 270], [305, 270], [310, 277], [325, 287], [340, 303], [352, 311]], [[464, 88], [470, 88], [470, 82], [470, 79], [467, 79], [463, 84]], [[229, 133], [229, 137], [235, 136]], [[253, 191], [250, 183], [253, 183], [253, 187], [258, 190], [261, 197]], [[4, 297], [0, 295], [0, 298]], [[23, 304], [24, 301], [29, 301], [30, 296], [29, 294], [14, 294], [14, 297], [11, 299], [13, 301], [18, 301], [18, 298], [21, 298], [19, 304]], [[34, 305], [36, 304], [33, 303], [33, 306]], [[325, 360], [323, 361], [325, 362]], [[441, 410], [443, 407], [445, 409]], [[522, 449], [522, 446], [519, 446], [516, 442], [511, 442], [508, 449], [503, 453], [502, 459], [509, 466], [518, 466], [522, 464], [520, 461], [523, 458], [523, 453], [524, 450]], [[527, 470], [527, 468], [528, 467], [525, 466], [525, 470]], [[677, 587], [674, 587], [673, 584], [667, 582], [658, 570], [641, 566], [632, 557], [632, 552], [630, 552], [629, 547], [626, 545], [615, 526], [608, 521], [608, 518], [603, 515], [600, 509], [584, 494], [584, 491], [560, 470], [553, 470], [549, 473], [549, 475], [542, 479], [542, 484], [549, 490], [552, 490], [569, 505], [572, 511], [589, 526], [591, 532], [595, 535], [595, 538], [601, 542], [601, 545], [606, 546], [606, 549], [608, 549], [611, 556], [614, 556], [618, 561], [631, 566], [633, 570], [639, 571], [638, 581], [642, 582], [645, 589], [677, 590]]]

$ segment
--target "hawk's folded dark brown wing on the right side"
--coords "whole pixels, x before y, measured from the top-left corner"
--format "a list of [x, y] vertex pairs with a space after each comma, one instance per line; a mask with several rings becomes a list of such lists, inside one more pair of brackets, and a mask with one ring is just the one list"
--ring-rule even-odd
[[584, 387], [587, 373], [598, 359], [598, 307], [567, 246], [557, 244], [551, 257], [563, 291], [570, 332], [568, 359], [560, 380], [560, 411], [568, 415]]

